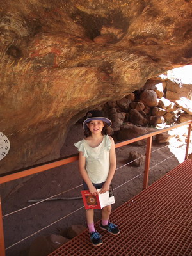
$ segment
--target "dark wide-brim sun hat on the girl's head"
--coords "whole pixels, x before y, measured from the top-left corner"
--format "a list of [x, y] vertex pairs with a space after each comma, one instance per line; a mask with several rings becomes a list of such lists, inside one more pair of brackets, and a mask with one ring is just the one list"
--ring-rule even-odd
[[83, 122], [83, 130], [87, 128], [86, 124], [92, 120], [100, 120], [106, 122], [108, 126], [111, 126], [112, 122], [104, 116], [104, 113], [100, 110], [92, 110], [86, 113], [86, 119]]

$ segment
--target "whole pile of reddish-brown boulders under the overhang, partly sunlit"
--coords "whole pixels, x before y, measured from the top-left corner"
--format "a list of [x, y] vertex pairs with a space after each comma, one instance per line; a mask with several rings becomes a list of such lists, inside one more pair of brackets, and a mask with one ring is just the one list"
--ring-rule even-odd
[[[118, 140], [127, 140], [154, 131], [150, 127], [192, 120], [192, 101], [186, 97], [171, 102], [166, 99], [166, 88], [159, 81], [149, 80], [134, 93], [130, 93], [116, 102], [107, 102], [102, 110], [112, 121], [112, 128]], [[164, 143], [171, 136], [156, 136], [158, 143]], [[144, 145], [145, 140], [138, 141]]]

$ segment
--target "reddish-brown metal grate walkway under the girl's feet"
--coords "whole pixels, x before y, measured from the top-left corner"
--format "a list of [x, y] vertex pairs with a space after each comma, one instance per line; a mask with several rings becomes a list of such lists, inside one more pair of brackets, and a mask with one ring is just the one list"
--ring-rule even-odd
[[[88, 230], [49, 256], [192, 255], [192, 160], [188, 159], [111, 213], [120, 234], [99, 230], [103, 244], [94, 247]], [[116, 195], [118, 196], [118, 195]]]

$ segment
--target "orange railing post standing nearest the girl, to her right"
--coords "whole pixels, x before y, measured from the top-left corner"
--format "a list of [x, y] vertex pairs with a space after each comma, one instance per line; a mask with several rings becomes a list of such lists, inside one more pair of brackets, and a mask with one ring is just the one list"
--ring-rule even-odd
[[148, 186], [148, 172], [149, 172], [149, 165], [150, 165], [151, 145], [152, 145], [152, 136], [147, 138], [145, 170], [144, 170], [144, 177], [143, 177], [143, 189], [146, 189]]

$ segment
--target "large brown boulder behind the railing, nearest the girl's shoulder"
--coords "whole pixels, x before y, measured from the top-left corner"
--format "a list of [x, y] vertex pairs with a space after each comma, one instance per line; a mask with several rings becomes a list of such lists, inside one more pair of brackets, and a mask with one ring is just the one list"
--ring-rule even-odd
[[[130, 140], [132, 138], [136, 138], [146, 133], [147, 130], [143, 127], [137, 127], [134, 124], [125, 123], [120, 127], [120, 131], [118, 131], [117, 138], [118, 140]], [[137, 141], [134, 144], [138, 146], [143, 146], [146, 144], [146, 140]]]

